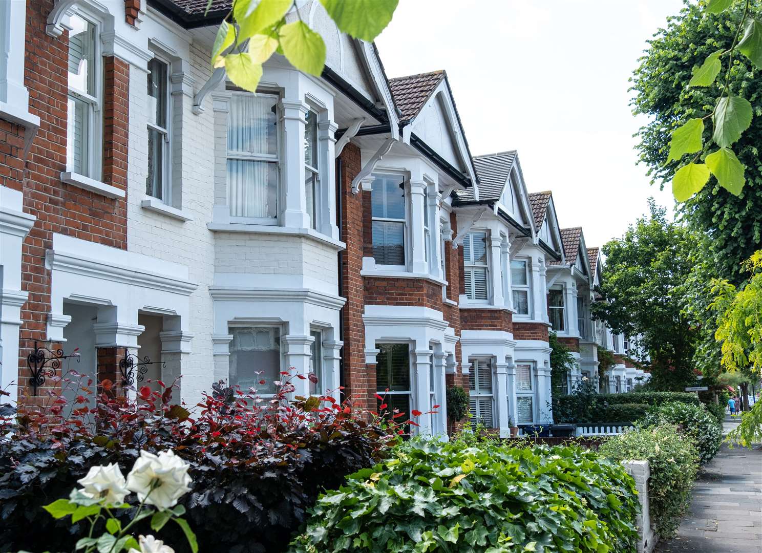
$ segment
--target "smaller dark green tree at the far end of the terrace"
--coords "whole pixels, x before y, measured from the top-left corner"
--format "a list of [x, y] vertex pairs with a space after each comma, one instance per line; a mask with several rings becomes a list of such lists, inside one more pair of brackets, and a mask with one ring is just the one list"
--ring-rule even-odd
[[617, 334], [639, 335], [633, 357], [651, 370], [655, 388], [682, 390], [695, 380], [697, 329], [683, 308], [692, 240], [683, 225], [667, 221], [666, 209], [652, 198], [648, 204], [649, 215], [604, 245], [603, 301], [593, 314]]

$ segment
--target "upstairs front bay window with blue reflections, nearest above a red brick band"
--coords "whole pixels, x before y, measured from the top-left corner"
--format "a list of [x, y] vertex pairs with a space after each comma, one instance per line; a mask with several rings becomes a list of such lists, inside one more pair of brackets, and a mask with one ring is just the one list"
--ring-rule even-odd
[[373, 258], [379, 265], [405, 265], [404, 182], [395, 175], [376, 175], [373, 180]]

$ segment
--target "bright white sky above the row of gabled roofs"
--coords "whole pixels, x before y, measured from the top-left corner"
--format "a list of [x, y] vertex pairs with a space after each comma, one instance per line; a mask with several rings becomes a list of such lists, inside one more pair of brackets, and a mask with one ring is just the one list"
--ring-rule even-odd
[[472, 155], [517, 149], [588, 247], [674, 206], [636, 165], [628, 79], [682, 0], [400, 0], [376, 38], [389, 78], [445, 69]]

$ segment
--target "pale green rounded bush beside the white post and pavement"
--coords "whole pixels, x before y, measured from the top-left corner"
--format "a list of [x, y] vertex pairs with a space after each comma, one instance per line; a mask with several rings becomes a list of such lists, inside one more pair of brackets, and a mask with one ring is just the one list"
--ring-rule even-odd
[[690, 505], [699, 468], [699, 454], [690, 437], [678, 433], [671, 424], [639, 428], [607, 440], [598, 453], [617, 462], [648, 461], [651, 519], [658, 535], [673, 535]]

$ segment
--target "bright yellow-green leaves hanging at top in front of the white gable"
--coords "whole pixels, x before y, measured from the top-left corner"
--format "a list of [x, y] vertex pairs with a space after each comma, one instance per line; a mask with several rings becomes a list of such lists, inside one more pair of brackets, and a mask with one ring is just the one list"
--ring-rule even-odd
[[[386, 28], [398, 0], [320, 0], [338, 30], [373, 41]], [[207, 11], [212, 4], [209, 0]], [[293, 7], [296, 21], [287, 23]], [[224, 67], [228, 78], [255, 92], [262, 64], [274, 53], [300, 71], [319, 76], [325, 66], [325, 42], [302, 20], [296, 0], [235, 0], [214, 40], [212, 66]]]

